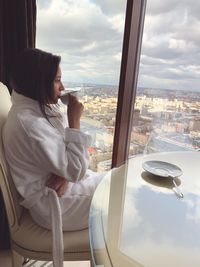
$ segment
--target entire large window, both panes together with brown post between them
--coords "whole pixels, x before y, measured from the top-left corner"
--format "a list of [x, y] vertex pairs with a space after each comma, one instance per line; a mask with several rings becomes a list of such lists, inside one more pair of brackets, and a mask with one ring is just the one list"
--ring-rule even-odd
[[60, 54], [65, 86], [81, 87], [98, 171], [200, 148], [199, 4], [147, 1], [143, 31], [146, 1], [127, 3], [125, 26], [125, 0], [37, 2], [37, 47]]

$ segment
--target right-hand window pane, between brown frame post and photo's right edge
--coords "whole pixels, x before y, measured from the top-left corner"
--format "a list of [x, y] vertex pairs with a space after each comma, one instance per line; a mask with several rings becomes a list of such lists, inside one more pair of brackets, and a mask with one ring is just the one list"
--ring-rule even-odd
[[198, 1], [147, 1], [129, 156], [200, 150]]

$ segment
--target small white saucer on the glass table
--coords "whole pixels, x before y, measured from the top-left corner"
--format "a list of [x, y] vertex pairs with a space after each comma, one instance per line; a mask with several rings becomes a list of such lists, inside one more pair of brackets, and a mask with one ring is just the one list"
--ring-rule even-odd
[[161, 177], [175, 178], [182, 175], [183, 173], [178, 166], [164, 161], [145, 161], [142, 164], [142, 167], [145, 171]]

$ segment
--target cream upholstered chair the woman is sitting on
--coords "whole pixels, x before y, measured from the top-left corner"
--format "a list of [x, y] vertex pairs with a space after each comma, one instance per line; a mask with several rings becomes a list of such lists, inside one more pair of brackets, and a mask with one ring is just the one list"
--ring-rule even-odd
[[[11, 107], [10, 94], [0, 82], [0, 187], [10, 230], [12, 266], [21, 267], [23, 258], [52, 261], [51, 231], [37, 225], [29, 212], [19, 205], [20, 196], [6, 165], [2, 129]], [[88, 230], [63, 232], [64, 260], [91, 261]]]

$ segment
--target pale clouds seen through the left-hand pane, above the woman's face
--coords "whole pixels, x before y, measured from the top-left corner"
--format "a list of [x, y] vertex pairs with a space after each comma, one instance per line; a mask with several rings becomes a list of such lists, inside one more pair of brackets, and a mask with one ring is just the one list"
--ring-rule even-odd
[[62, 56], [64, 80], [116, 84], [123, 27], [124, 14], [107, 16], [95, 2], [54, 0], [39, 5], [37, 47]]

